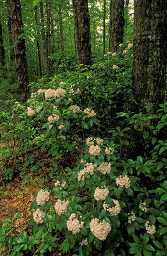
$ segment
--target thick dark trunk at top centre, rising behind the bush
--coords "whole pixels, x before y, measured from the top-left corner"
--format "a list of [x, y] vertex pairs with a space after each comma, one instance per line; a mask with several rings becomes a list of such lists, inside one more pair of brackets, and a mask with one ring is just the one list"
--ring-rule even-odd
[[[73, 0], [78, 64], [91, 64], [88, 0]], [[77, 19], [77, 20], [76, 20]]]

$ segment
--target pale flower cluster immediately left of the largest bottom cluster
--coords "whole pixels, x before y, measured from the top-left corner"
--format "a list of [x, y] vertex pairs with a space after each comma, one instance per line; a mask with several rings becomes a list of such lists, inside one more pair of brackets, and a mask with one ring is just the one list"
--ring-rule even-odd
[[73, 235], [76, 235], [77, 233], [79, 233], [81, 228], [83, 228], [83, 225], [84, 225], [84, 222], [79, 221], [75, 213], [72, 213], [70, 215], [70, 218], [67, 221], [67, 229], [68, 231], [71, 231]]

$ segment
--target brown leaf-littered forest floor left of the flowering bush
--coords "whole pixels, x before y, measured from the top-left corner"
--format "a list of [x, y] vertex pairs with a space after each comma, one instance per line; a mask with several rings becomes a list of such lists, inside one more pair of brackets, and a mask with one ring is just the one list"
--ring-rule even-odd
[[[17, 168], [21, 164], [24, 164], [25, 157], [20, 156], [19, 146], [13, 141], [8, 132], [3, 131], [3, 127], [0, 127], [0, 226], [5, 218], [10, 218], [13, 221], [14, 226], [10, 233], [13, 236], [19, 235], [22, 231], [26, 230], [28, 234], [32, 234], [32, 228], [29, 226], [29, 220], [31, 218], [31, 202], [34, 200], [34, 195], [43, 186], [51, 188], [54, 186], [52, 179], [49, 179], [49, 168], [41, 167], [35, 172], [26, 170], [25, 174], [17, 173], [11, 180], [4, 180], [3, 174], [7, 168]], [[13, 146], [14, 145], [14, 146]], [[16, 153], [16, 154], [15, 154]], [[36, 159], [40, 159], [40, 150], [31, 152]], [[9, 157], [10, 156], [10, 157]], [[26, 156], [27, 157], [27, 156]], [[44, 159], [43, 159], [44, 161]], [[56, 159], [45, 159], [45, 161], [56, 161]], [[31, 167], [31, 166], [30, 166]], [[30, 168], [29, 168], [30, 169]], [[9, 169], [10, 170], [10, 169]], [[51, 196], [51, 204], [55, 204], [55, 198]], [[15, 214], [19, 212], [19, 217], [15, 218]], [[5, 252], [5, 248], [1, 248], [0, 255]], [[60, 252], [52, 252], [50, 256], [62, 255]], [[70, 256], [71, 254], [65, 254]]]

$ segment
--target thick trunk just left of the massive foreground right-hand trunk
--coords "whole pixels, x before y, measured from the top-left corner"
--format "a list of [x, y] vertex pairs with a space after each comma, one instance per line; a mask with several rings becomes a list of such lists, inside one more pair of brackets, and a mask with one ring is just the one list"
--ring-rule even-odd
[[123, 43], [124, 0], [111, 0], [110, 6], [109, 51], [116, 52]]

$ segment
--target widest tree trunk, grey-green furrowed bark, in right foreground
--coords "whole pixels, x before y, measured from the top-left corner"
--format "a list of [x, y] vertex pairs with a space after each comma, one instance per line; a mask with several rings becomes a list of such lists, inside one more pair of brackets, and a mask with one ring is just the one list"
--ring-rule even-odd
[[166, 13], [166, 1], [134, 1], [134, 111], [155, 113], [164, 101]]

